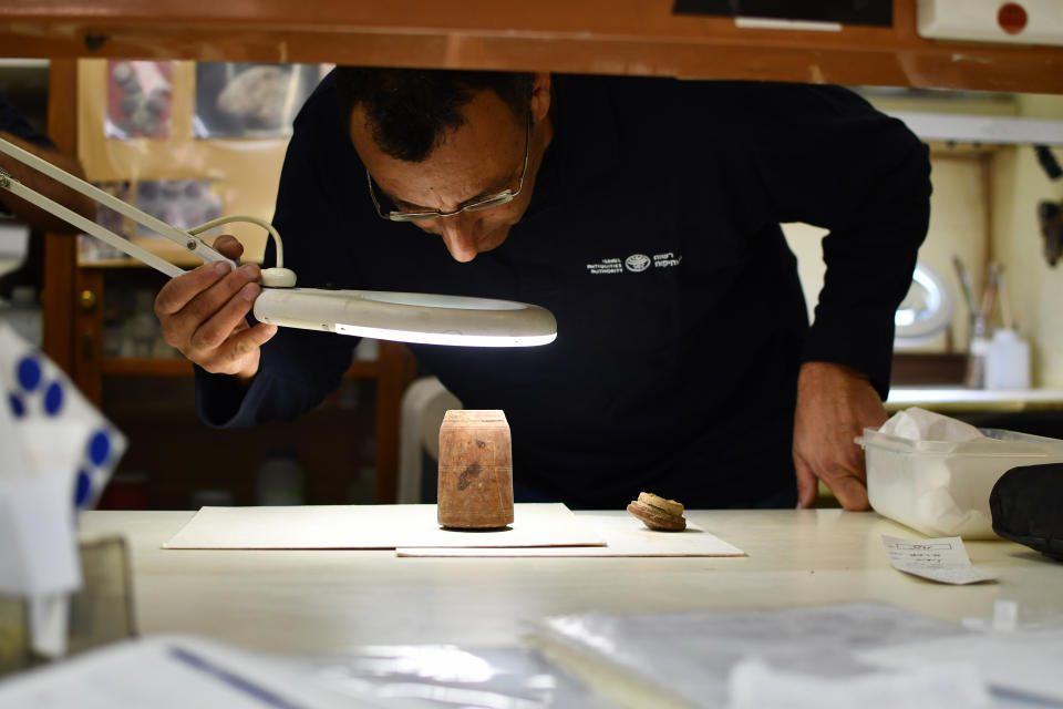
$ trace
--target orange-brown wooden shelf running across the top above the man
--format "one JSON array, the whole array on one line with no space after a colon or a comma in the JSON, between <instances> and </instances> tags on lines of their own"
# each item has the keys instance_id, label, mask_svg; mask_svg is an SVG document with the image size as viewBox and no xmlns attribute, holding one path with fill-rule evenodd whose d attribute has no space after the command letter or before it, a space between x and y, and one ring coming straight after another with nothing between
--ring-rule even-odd
<instances>
[{"instance_id":1,"label":"orange-brown wooden shelf running across the top above the man","mask_svg":"<svg viewBox=\"0 0 1063 709\"><path fill-rule=\"evenodd\" d=\"M889 28L740 28L673 0L334 2L7 0L8 56L111 56L774 79L1063 93L1063 50L926 40L916 0Z\"/></svg>"}]
</instances>

